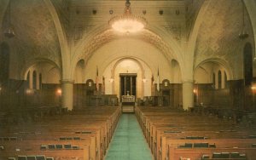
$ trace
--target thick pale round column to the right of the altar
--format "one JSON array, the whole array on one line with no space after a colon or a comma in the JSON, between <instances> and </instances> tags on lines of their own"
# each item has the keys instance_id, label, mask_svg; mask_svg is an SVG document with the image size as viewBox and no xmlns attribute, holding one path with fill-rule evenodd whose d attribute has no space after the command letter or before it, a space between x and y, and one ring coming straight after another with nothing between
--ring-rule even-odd
<instances>
[{"instance_id":1,"label":"thick pale round column to the right of the altar","mask_svg":"<svg viewBox=\"0 0 256 160\"><path fill-rule=\"evenodd\" d=\"M194 107L194 83L193 80L183 81L183 110Z\"/></svg>"}]
</instances>

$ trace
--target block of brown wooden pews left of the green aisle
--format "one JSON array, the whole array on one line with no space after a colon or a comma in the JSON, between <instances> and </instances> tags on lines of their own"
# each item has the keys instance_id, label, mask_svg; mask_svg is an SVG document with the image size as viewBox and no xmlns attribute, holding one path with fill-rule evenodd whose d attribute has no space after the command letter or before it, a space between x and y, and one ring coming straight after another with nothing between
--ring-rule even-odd
<instances>
[{"instance_id":1,"label":"block of brown wooden pews left of the green aisle","mask_svg":"<svg viewBox=\"0 0 256 160\"><path fill-rule=\"evenodd\" d=\"M101 160L121 114L117 106L38 112L0 123L1 160Z\"/></svg>"}]
</instances>

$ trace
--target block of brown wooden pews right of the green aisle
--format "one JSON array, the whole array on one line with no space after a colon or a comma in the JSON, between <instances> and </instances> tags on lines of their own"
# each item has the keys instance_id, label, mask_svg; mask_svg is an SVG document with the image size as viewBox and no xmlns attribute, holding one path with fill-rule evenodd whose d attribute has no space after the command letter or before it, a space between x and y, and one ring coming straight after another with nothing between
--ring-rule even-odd
<instances>
[{"instance_id":1,"label":"block of brown wooden pews right of the green aisle","mask_svg":"<svg viewBox=\"0 0 256 160\"><path fill-rule=\"evenodd\" d=\"M229 158L233 152L245 154L242 159L255 156L255 128L167 107L137 106L135 112L154 159L216 159L214 152L229 152Z\"/></svg>"}]
</instances>

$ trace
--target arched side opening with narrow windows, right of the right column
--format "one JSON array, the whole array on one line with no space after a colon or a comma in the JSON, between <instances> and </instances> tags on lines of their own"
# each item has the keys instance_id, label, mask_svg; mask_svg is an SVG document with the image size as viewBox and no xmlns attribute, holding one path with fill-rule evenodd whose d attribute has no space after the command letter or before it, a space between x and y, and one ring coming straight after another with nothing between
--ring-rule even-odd
<instances>
[{"instance_id":1,"label":"arched side opening with narrow windows, right of the right column","mask_svg":"<svg viewBox=\"0 0 256 160\"><path fill-rule=\"evenodd\" d=\"M194 96L199 106L227 107L230 106L230 94L224 89L224 77L230 74L227 68L217 60L202 62L195 68ZM224 76L224 72L226 76ZM227 81L227 80L226 80Z\"/></svg>"}]
</instances>

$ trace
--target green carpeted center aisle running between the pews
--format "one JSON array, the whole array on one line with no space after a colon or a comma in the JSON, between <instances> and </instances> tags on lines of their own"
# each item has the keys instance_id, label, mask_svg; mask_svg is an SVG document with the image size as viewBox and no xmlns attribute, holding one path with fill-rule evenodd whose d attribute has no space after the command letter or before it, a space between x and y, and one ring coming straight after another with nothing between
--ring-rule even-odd
<instances>
[{"instance_id":1,"label":"green carpeted center aisle running between the pews","mask_svg":"<svg viewBox=\"0 0 256 160\"><path fill-rule=\"evenodd\" d=\"M122 114L105 160L152 160L147 141L134 114Z\"/></svg>"}]
</instances>

